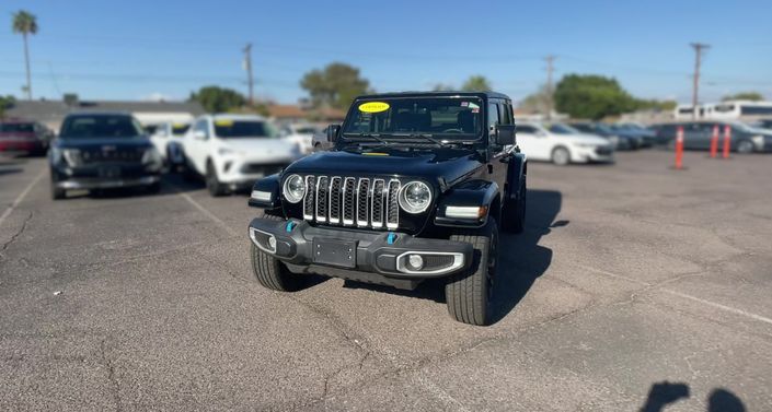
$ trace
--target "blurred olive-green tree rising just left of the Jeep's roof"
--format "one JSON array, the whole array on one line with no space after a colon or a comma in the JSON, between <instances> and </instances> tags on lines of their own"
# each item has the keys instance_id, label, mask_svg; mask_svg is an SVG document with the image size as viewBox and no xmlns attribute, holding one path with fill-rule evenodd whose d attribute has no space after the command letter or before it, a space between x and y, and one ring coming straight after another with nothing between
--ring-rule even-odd
<instances>
[{"instance_id":1,"label":"blurred olive-green tree rising just left of the Jeep's roof","mask_svg":"<svg viewBox=\"0 0 772 412\"><path fill-rule=\"evenodd\" d=\"M324 69L314 69L300 80L300 86L311 95L315 108L348 108L358 95L365 94L370 82L359 75L359 69L346 63L333 62Z\"/></svg>"}]
</instances>

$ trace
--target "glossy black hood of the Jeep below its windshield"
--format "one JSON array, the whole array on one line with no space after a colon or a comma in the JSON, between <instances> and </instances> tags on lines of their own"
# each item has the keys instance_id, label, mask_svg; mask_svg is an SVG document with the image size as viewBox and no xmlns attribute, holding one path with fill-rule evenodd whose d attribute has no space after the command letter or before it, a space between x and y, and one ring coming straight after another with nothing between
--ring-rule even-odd
<instances>
[{"instance_id":1,"label":"glossy black hood of the Jeep below its windshield","mask_svg":"<svg viewBox=\"0 0 772 412\"><path fill-rule=\"evenodd\" d=\"M483 163L477 152L468 149L433 148L431 151L379 148L365 151L318 152L287 167L287 174L329 176L420 177L452 185Z\"/></svg>"}]
</instances>

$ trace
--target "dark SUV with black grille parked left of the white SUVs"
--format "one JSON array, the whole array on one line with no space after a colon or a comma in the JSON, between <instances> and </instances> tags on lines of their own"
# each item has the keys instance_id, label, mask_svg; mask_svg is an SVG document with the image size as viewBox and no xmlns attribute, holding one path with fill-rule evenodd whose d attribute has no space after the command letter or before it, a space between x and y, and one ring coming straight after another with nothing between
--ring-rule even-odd
<instances>
[{"instance_id":1,"label":"dark SUV with black grille parked left of the white SUVs","mask_svg":"<svg viewBox=\"0 0 772 412\"><path fill-rule=\"evenodd\" d=\"M146 187L159 191L163 160L139 122L122 113L68 115L48 151L51 197L68 190Z\"/></svg>"}]
</instances>

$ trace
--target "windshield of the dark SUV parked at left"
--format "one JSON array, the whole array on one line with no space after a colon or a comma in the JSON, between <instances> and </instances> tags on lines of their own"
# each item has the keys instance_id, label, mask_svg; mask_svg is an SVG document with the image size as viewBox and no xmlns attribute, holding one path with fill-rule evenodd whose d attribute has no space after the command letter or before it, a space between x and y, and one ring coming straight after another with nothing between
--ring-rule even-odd
<instances>
[{"instance_id":1,"label":"windshield of the dark SUV parked at left","mask_svg":"<svg viewBox=\"0 0 772 412\"><path fill-rule=\"evenodd\" d=\"M131 116L78 115L70 116L61 126L60 138L135 138L142 134L142 127Z\"/></svg>"}]
</instances>

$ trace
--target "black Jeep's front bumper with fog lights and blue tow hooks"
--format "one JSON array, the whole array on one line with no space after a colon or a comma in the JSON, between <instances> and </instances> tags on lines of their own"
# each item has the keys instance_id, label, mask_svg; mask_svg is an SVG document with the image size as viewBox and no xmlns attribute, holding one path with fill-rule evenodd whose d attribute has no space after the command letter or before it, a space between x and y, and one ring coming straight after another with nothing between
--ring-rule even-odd
<instances>
[{"instance_id":1,"label":"black Jeep's front bumper with fog lights and blue tow hooks","mask_svg":"<svg viewBox=\"0 0 772 412\"><path fill-rule=\"evenodd\" d=\"M286 263L353 271L365 278L357 280L372 283L383 283L379 281L381 278L422 280L446 276L469 267L473 256L472 245L468 243L392 232L322 228L298 220L254 219L249 233L256 247ZM273 243L270 237L274 237ZM412 255L420 256L425 264L420 268L412 266ZM372 275L369 280L368 273Z\"/></svg>"}]
</instances>

